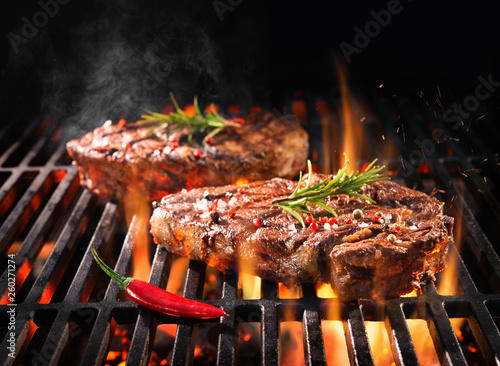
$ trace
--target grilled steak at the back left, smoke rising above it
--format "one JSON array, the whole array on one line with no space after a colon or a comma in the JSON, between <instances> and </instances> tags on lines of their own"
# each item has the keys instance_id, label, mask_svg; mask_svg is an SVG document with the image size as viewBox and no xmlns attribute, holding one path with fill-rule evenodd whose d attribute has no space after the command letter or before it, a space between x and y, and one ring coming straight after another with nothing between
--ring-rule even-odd
<instances>
[{"instance_id":1,"label":"grilled steak at the back left, smoke rising above it","mask_svg":"<svg viewBox=\"0 0 500 366\"><path fill-rule=\"evenodd\" d=\"M151 133L152 125L110 121L67 143L81 183L102 197L127 193L151 200L201 186L273 177L294 178L305 167L307 133L293 117L252 114L239 128L228 127L203 141L190 129ZM149 134L149 136L148 136ZM147 137L146 137L147 136Z\"/></svg>"}]
</instances>

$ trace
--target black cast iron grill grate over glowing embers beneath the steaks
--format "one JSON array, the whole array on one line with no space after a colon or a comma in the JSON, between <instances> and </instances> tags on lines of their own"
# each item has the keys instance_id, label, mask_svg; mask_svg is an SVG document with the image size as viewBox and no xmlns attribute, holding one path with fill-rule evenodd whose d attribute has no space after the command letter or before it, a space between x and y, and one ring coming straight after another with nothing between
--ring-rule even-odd
<instances>
[{"instance_id":1,"label":"black cast iron grill grate over glowing embers beneath the steaks","mask_svg":"<svg viewBox=\"0 0 500 366\"><path fill-rule=\"evenodd\" d=\"M338 135L342 135L345 126L340 122L342 116L332 111L341 110L340 104L338 95L329 93L288 93L285 98L286 110L294 111L307 126L311 157L325 173L338 168L333 156L339 153L334 147L340 146ZM110 354L116 351L115 340L121 337L117 331L128 326L128 338L121 340L129 339L129 344L126 353L120 351L121 355L126 356L127 364L146 365L153 362L153 349L159 338L157 329L174 324L171 352L163 364L196 363L198 333L208 326L216 330L214 356L205 361L233 365L248 357L242 351L239 330L242 324L251 323L258 325L260 347L246 361L276 365L283 360L284 349L288 349L280 325L291 320L301 323L303 351L299 352L308 365L328 363L328 345L322 331L324 321L343 324L346 358L352 365L377 363L367 334L367 321L384 324L396 364L414 365L421 361L408 321L418 319L427 323L442 364L500 363L500 261L496 239L500 206L495 190L500 178L495 153L498 128L483 118L477 128L451 130L428 108L429 101L424 97L410 103L404 98L376 96L369 98L367 105L368 108L359 108L363 113L368 111L359 124L358 133L364 138L359 159L365 162L382 156L381 162L389 171L402 173L394 179L433 192L446 202L447 213L456 218L457 225L456 245L450 248L457 289L441 293L438 284L443 272L436 284L429 283L409 297L344 304L336 298L318 296L316 288L310 285L302 286L294 298L283 297L278 284L262 280L261 295L248 299L241 294L238 274L229 273L220 274L220 296L206 299L207 266L191 261L184 281L184 296L221 306L228 317L220 321L196 321L137 308L124 301L118 286L100 273L88 245L94 241L106 262L114 264L120 274L130 275L141 221L133 217L125 224L123 207L99 202L80 188L77 169L69 164L64 144L57 140L61 126L35 118L14 142L8 141L7 136L16 128L15 123L0 135L4 146L0 156L0 251L5 258L0 264L0 362L4 365L118 364L113 363ZM431 134L438 129L455 139L436 142ZM396 151L386 155L397 155L398 159L383 159L386 141ZM434 150L426 155L425 161L418 161L416 152L425 147L422 142L432 141ZM471 145L477 147L474 150L477 153L472 155ZM15 359L5 352L11 345L9 253L15 254ZM149 281L167 286L175 260L164 249L155 248ZM450 321L454 318L466 320L479 348L474 354L467 352L457 336Z\"/></svg>"}]
</instances>

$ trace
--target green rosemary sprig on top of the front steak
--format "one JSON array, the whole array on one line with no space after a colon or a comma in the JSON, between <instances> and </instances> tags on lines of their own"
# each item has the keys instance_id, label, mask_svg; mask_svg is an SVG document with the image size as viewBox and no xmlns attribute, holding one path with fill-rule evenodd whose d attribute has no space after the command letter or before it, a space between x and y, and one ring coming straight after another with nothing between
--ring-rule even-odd
<instances>
[{"instance_id":1,"label":"green rosemary sprig on top of the front steak","mask_svg":"<svg viewBox=\"0 0 500 366\"><path fill-rule=\"evenodd\" d=\"M302 184L302 172L299 175L299 183L293 191L293 193L287 198L281 198L274 200L272 203L285 211L286 213L292 215L297 221L300 222L302 227L305 227L304 218L300 212L312 215L314 214L308 207L314 207L315 205L323 208L334 216L337 216L335 210L327 206L324 199L328 196L348 194L350 196L361 197L371 203L375 203L373 199L362 195L359 190L367 183L373 183L379 180L388 179L387 177L379 174L385 166L374 166L377 159L373 160L370 165L363 171L356 171L355 173L347 174L347 166L349 165L349 160L344 153L344 166L339 169L338 173L333 178L326 178L310 187L311 177L312 177L312 167L311 161L307 161L308 169L308 179L306 186L301 188Z\"/></svg>"}]
</instances>

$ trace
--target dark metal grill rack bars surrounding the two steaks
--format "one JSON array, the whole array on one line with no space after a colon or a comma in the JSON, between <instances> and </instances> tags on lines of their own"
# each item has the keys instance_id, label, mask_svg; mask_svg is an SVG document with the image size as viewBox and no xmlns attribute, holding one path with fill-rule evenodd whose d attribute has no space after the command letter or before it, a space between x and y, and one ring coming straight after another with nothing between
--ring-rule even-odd
<instances>
[{"instance_id":1,"label":"dark metal grill rack bars surrounding the two steaks","mask_svg":"<svg viewBox=\"0 0 500 366\"><path fill-rule=\"evenodd\" d=\"M336 94L312 96L305 93L305 97L296 98L292 93L285 96L285 105L288 110L294 109L294 103L299 101L306 105L307 114L299 116L309 126L313 149L317 154L319 164L327 160L327 146L321 131L322 122L316 113L315 103L318 100L328 100L329 106L338 105ZM425 99L422 99L425 102ZM394 101L380 97L371 99L376 110L380 113L379 120L386 133L397 144L401 155L410 161L409 144L397 133L390 108ZM394 104L393 104L394 103ZM410 109L402 109L405 120L409 121L411 131L420 140L428 138L422 121L415 120ZM420 109L421 111L422 109ZM435 116L430 119L436 126L452 133L449 128ZM14 122L10 128L15 128ZM498 136L498 129L489 123L489 131ZM97 202L88 191L79 188L76 167L65 161L64 146L58 146L50 138L61 126L57 122L48 123L41 117L35 118L24 129L23 134L8 146L0 157L0 174L5 177L0 189L0 202L11 202L3 213L0 226L0 251L5 254L14 245L19 237L22 239L15 257L16 280L19 284L29 278L35 257L50 236L50 229L57 226L56 218L64 218L64 226L46 259L40 274L33 280L29 288L21 286L22 301L16 305L16 354L21 356L27 353L29 343L33 340L37 327L48 327L49 335L40 342L35 349L34 356L28 358L37 364L58 364L63 362L64 352L68 344L79 333L83 326L91 326L85 350L81 355L80 364L103 364L111 345L114 331L118 324L135 324L129 348L127 363L131 365L148 364L151 355L156 327L159 324L176 323L177 333L172 353L172 364L190 364L193 362L194 342L196 331L200 324L207 321L177 319L166 315L153 314L146 309L138 309L135 304L122 301L118 286L110 282L104 293L95 294L92 284L99 274L98 267L93 263L92 256L86 247L89 240L94 241L98 251L105 249L110 242L116 241L116 232L122 220L120 207L114 203ZM475 131L474 129L472 131ZM3 133L2 141L8 134ZM35 136L42 136L35 138ZM371 134L367 136L373 137ZM34 141L34 143L33 143ZM479 141L479 140L476 140ZM236 359L237 343L236 330L242 322L258 322L261 324L260 360L264 365L279 364L281 360L279 324L283 320L284 309L292 309L297 321L302 322L304 336L305 362L308 365L326 364L325 345L321 331L322 320L340 320L344 325L345 339L349 360L352 365L375 364L366 333L365 319L383 321L387 327L392 347L393 358L398 365L418 364L418 355L413 346L406 319L417 318L427 322L429 331L437 350L440 362L445 365L467 364L460 342L450 324L450 318L466 318L480 348L486 364L500 362L500 333L495 318L500 317L500 260L497 252L491 245L484 228L478 223L474 209L469 200L461 193L461 186L455 184L455 177L450 175L447 166L457 164L461 171L467 171L468 178L464 183L472 191L480 189L478 196L484 204L490 222L500 223L499 205L491 189L483 179L473 170L480 161L488 158L493 164L498 163L488 146L483 146L480 156L468 157L461 145L453 140L446 142L450 145L454 155L428 156L432 176L435 184L446 193L443 198L450 206L461 209L462 242L468 246L478 266L486 266L485 273L491 291L478 290L477 284L471 276L463 258L454 245L450 248L450 255L456 254L459 282L462 293L453 296L438 294L434 283L426 285L413 297L402 297L381 302L360 301L357 304L343 304L338 299L319 298L313 286L302 286L302 296L299 299L282 299L277 296L278 285L269 281L262 281L262 298L255 300L242 299L238 294L238 276L235 273L224 275L222 296L218 300L207 301L221 306L230 316L223 317L219 323L217 343L217 365L234 364ZM376 146L376 143L370 144ZM47 147L49 147L47 149ZM50 151L48 158L42 164L33 164L39 160L43 151ZM24 151L26 154L23 156ZM384 162L394 166L398 162ZM498 170L492 170L498 179ZM24 193L17 192L17 186L22 180ZM48 183L47 183L48 182ZM407 185L424 189L425 184L416 171L405 177ZM18 196L16 198L16 196ZM35 207L33 202L42 200ZM98 212L98 222L92 225L92 216ZM66 215L66 216L65 216ZM477 213L476 213L477 215ZM95 219L95 217L94 217ZM134 232L137 223L134 219L119 247L119 256L115 269L125 274L131 264L132 247L135 243ZM25 233L21 235L20 233ZM89 236L91 236L89 238ZM490 236L491 237L491 236ZM82 239L84 238L84 239ZM87 240L85 240L87 239ZM51 296L57 293L57 285L64 277L64 273L71 266L71 258L78 248L83 246L81 263L75 272L68 291L61 300L50 302ZM168 281L172 256L162 248L156 248L152 262L149 281L157 286L165 286ZM2 263L2 279L0 294L5 299L8 291L8 271ZM187 271L184 296L201 298L205 278L206 265L191 261ZM55 285L54 285L55 284ZM17 286L19 288L19 286ZM19 295L19 294L18 294ZM47 300L48 299L48 300ZM328 311L335 308L338 311ZM7 349L8 342L8 314L9 305L1 305L0 320L2 327L2 350ZM331 318L331 314L338 314ZM208 321L208 323L216 321ZM498 323L497 323L498 324ZM33 349L30 349L33 351ZM32 352L33 353L33 352ZM29 355L28 355L29 356ZM1 353L0 362L4 365L19 364L19 359L12 359L7 353Z\"/></svg>"}]
</instances>

